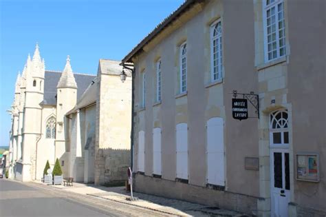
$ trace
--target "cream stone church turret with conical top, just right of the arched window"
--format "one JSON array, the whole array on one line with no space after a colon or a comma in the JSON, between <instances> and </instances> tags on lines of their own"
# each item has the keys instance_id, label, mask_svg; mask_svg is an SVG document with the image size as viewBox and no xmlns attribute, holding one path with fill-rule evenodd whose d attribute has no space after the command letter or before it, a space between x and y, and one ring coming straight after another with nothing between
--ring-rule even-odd
<instances>
[{"instance_id":1,"label":"cream stone church turret with conical top, just right of the arched window","mask_svg":"<svg viewBox=\"0 0 326 217\"><path fill-rule=\"evenodd\" d=\"M65 114L72 110L77 101L77 84L67 56L65 69L56 86L56 158L65 153Z\"/></svg>"}]
</instances>

